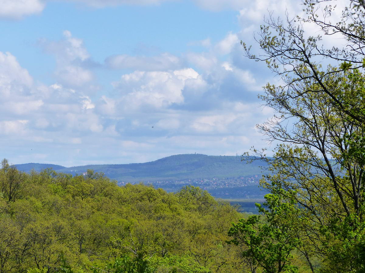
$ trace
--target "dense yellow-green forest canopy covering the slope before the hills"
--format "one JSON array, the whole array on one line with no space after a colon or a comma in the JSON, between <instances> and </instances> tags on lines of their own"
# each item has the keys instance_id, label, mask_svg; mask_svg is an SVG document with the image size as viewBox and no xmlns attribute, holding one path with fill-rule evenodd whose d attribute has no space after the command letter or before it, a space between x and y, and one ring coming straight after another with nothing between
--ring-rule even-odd
<instances>
[{"instance_id":1,"label":"dense yellow-green forest canopy covering the slope before the hills","mask_svg":"<svg viewBox=\"0 0 365 273\"><path fill-rule=\"evenodd\" d=\"M242 272L234 207L186 186L119 187L100 173L30 174L1 162L0 272Z\"/></svg>"}]
</instances>

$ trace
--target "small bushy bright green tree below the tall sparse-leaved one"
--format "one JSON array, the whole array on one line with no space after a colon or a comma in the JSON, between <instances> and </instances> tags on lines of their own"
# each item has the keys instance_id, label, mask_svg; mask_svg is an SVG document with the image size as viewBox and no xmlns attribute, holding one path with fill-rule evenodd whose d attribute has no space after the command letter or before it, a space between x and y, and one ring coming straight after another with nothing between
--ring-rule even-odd
<instances>
[{"instance_id":1,"label":"small bushy bright green tree below the tall sparse-leaved one","mask_svg":"<svg viewBox=\"0 0 365 273\"><path fill-rule=\"evenodd\" d=\"M266 200L268 209L258 204L263 215L253 215L233 224L228 232L232 237L229 243L249 247L243 250L242 258L252 273L258 267L268 273L296 273L293 251L300 246L301 239L293 223L297 222L299 210L291 203L280 202L277 195L268 194Z\"/></svg>"}]
</instances>

